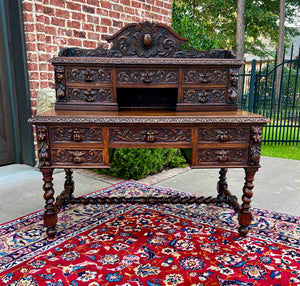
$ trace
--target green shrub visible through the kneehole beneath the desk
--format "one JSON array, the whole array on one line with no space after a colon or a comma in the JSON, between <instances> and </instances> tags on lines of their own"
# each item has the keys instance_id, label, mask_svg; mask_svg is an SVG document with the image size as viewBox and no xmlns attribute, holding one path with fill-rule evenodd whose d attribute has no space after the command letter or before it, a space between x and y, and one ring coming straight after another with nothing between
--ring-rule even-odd
<instances>
[{"instance_id":1,"label":"green shrub visible through the kneehole beneath the desk","mask_svg":"<svg viewBox=\"0 0 300 286\"><path fill-rule=\"evenodd\" d=\"M123 179L139 180L163 169L186 166L178 149L116 149L110 169L96 169Z\"/></svg>"}]
</instances>

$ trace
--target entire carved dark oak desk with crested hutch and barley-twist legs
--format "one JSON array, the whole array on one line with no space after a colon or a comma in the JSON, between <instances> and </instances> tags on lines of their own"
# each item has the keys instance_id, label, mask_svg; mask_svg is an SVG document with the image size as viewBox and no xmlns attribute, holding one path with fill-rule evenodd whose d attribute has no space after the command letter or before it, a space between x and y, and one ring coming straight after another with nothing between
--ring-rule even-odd
<instances>
[{"instance_id":1,"label":"entire carved dark oak desk with crested hutch and barley-twist legs","mask_svg":"<svg viewBox=\"0 0 300 286\"><path fill-rule=\"evenodd\" d=\"M163 24L129 24L107 41L110 49L66 48L51 60L55 110L29 120L37 131L48 236L69 203L220 202L238 213L246 236L266 119L237 109L243 62L225 50L182 50L187 39ZM180 148L192 168L220 168L217 197L74 198L71 169L109 168L114 148ZM66 172L56 200L54 168ZM227 168L245 169L241 205L227 188Z\"/></svg>"}]
</instances>

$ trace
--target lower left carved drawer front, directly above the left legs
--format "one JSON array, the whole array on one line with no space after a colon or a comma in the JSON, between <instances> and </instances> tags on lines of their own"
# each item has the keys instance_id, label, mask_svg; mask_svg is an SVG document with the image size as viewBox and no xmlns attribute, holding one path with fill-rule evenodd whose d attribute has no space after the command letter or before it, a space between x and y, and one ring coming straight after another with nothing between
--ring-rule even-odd
<instances>
[{"instance_id":1,"label":"lower left carved drawer front, directly above the left legs","mask_svg":"<svg viewBox=\"0 0 300 286\"><path fill-rule=\"evenodd\" d=\"M52 148L51 160L53 165L94 165L104 164L103 149L89 148Z\"/></svg>"}]
</instances>

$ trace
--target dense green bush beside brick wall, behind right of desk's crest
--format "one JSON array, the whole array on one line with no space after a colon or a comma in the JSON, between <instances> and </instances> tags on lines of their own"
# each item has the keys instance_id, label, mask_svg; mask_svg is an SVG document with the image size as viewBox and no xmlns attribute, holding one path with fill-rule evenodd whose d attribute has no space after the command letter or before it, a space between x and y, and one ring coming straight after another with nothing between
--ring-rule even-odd
<instances>
[{"instance_id":1,"label":"dense green bush beside brick wall, behind right of desk's crest","mask_svg":"<svg viewBox=\"0 0 300 286\"><path fill-rule=\"evenodd\" d=\"M174 1L172 15L172 29L189 39L186 44L182 45L183 49L188 50L193 47L197 50L212 50L219 47L219 39L210 37L204 25L194 21L192 6Z\"/></svg>"}]
</instances>

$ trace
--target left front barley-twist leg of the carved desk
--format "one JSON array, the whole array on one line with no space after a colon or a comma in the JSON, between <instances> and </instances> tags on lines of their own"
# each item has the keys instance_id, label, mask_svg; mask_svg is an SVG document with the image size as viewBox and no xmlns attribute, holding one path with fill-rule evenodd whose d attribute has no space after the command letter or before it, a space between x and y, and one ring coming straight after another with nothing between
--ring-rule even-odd
<instances>
[{"instance_id":1,"label":"left front barley-twist leg of the carved desk","mask_svg":"<svg viewBox=\"0 0 300 286\"><path fill-rule=\"evenodd\" d=\"M44 199L46 201L45 212L44 212L44 226L47 227L46 233L49 238L54 238L56 234L56 222L57 222L57 214L54 210L54 189L52 184L52 174L53 169L41 169L43 173L43 181L45 182L43 185Z\"/></svg>"}]
</instances>

